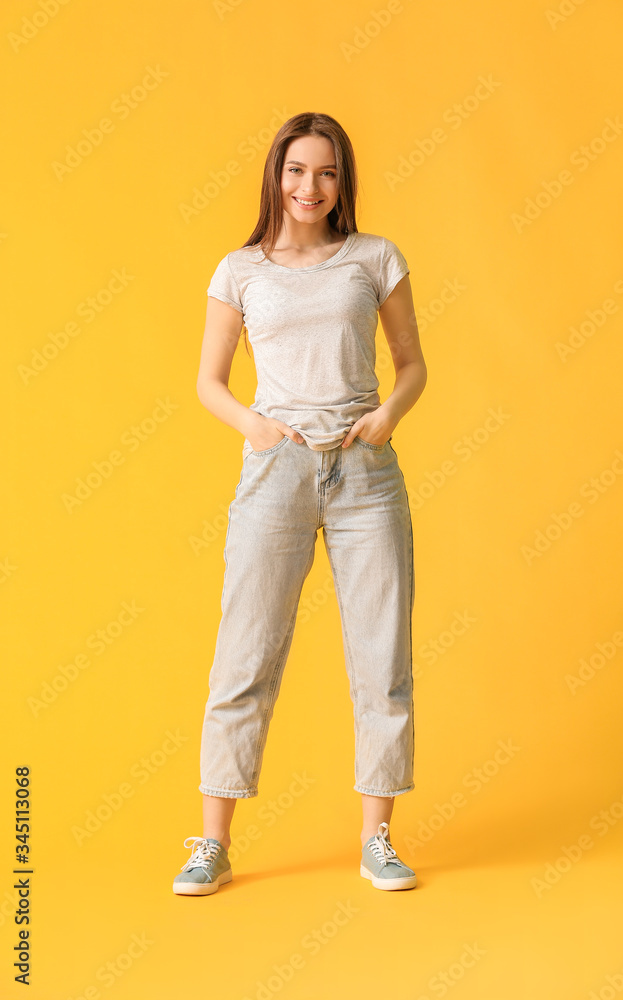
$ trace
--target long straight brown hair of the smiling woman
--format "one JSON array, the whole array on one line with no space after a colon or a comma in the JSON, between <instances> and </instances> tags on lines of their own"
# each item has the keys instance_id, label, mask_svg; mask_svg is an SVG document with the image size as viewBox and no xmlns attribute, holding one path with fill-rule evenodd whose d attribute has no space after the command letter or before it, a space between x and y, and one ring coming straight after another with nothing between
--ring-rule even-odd
<instances>
[{"instance_id":1,"label":"long straight brown hair of the smiling woman","mask_svg":"<svg viewBox=\"0 0 623 1000\"><path fill-rule=\"evenodd\" d=\"M329 225L338 233L356 233L357 222L357 165L350 139L339 122L331 115L303 111L284 122L266 156L260 212L255 229L243 247L260 247L265 257L270 257L283 225L283 198L281 173L288 143L303 135L319 135L333 144L337 174L337 201L328 215ZM247 354L247 328L242 327Z\"/></svg>"}]
</instances>

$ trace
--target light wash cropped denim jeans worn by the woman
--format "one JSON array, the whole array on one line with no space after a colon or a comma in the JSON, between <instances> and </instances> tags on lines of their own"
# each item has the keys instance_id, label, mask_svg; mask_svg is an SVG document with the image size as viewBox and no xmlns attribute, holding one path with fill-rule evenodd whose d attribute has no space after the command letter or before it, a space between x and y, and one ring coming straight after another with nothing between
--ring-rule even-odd
<instances>
[{"instance_id":1,"label":"light wash cropped denim jeans worn by the woman","mask_svg":"<svg viewBox=\"0 0 623 1000\"><path fill-rule=\"evenodd\" d=\"M201 740L205 795L258 794L321 527L354 707L354 790L391 796L414 788L413 533L398 456L390 441L356 437L348 448L314 451L285 436L244 457L229 506L222 618ZM327 657L321 668L330 666Z\"/></svg>"}]
</instances>

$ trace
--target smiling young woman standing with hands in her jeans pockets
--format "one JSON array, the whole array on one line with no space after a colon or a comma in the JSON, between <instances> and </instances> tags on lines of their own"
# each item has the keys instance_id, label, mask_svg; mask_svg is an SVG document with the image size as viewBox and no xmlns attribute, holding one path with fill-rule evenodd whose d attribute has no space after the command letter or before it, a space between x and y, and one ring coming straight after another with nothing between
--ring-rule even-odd
<instances>
[{"instance_id":1,"label":"smiling young woman standing with hands in her jeans pockets","mask_svg":"<svg viewBox=\"0 0 623 1000\"><path fill-rule=\"evenodd\" d=\"M202 732L203 837L184 841L191 857L173 883L179 894L208 895L232 878L234 806L258 794L320 528L354 706L360 874L380 889L415 885L389 838L394 797L414 788L413 536L390 441L427 372L407 262L391 240L357 230L356 196L339 123L294 116L269 150L257 226L208 288L199 398L244 444ZM383 403L379 315L396 370ZM250 407L228 388L241 328L257 371Z\"/></svg>"}]
</instances>

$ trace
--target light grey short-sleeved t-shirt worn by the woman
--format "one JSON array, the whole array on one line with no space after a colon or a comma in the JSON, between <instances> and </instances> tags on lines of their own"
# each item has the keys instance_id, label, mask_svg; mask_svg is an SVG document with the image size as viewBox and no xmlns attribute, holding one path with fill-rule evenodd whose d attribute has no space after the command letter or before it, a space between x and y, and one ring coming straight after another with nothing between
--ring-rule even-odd
<instances>
[{"instance_id":1,"label":"light grey short-sleeved t-shirt worn by the woman","mask_svg":"<svg viewBox=\"0 0 623 1000\"><path fill-rule=\"evenodd\" d=\"M253 349L252 410L293 427L310 448L335 448L380 405L378 310L409 266L395 243L349 233L328 260L284 267L259 247L232 250L207 294L242 313ZM252 451L247 438L243 458Z\"/></svg>"}]
</instances>

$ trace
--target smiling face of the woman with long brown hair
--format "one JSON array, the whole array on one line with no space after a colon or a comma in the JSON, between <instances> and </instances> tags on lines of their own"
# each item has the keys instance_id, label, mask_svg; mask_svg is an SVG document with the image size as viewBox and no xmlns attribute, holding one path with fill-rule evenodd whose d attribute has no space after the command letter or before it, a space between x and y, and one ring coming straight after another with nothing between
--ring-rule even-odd
<instances>
[{"instance_id":1,"label":"smiling face of the woman with long brown hair","mask_svg":"<svg viewBox=\"0 0 623 1000\"><path fill-rule=\"evenodd\" d=\"M283 209L297 222L319 222L337 202L337 167L333 143L325 136L303 135L289 143L281 172ZM306 207L301 202L316 204Z\"/></svg>"}]
</instances>

